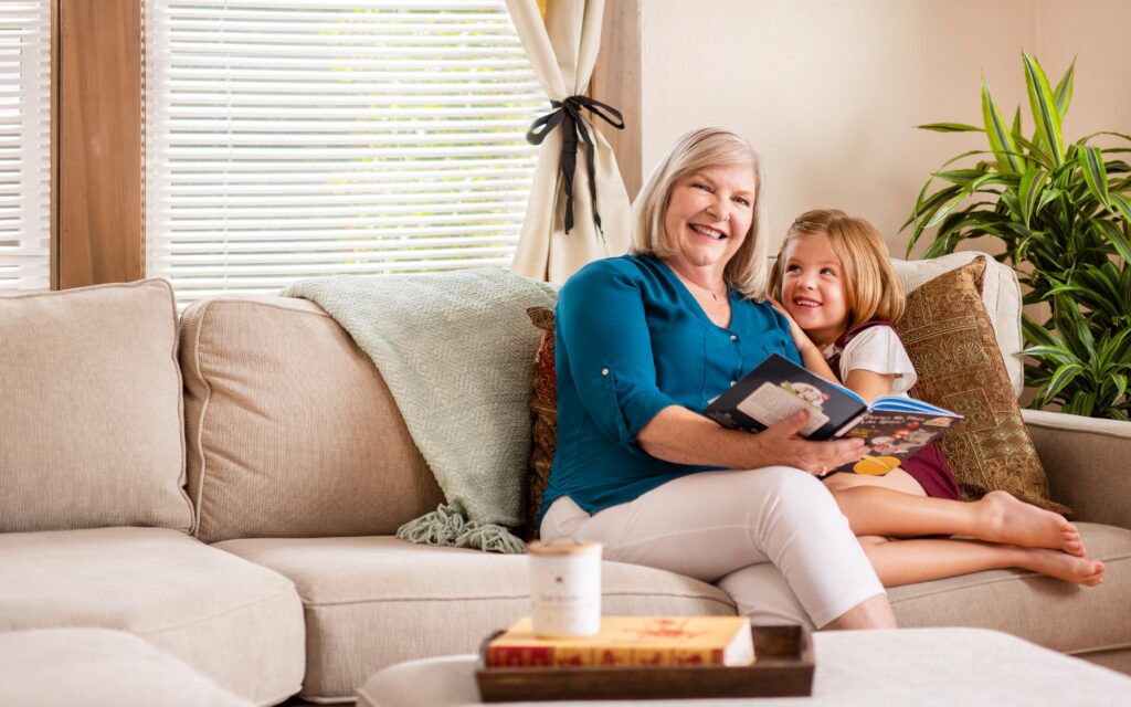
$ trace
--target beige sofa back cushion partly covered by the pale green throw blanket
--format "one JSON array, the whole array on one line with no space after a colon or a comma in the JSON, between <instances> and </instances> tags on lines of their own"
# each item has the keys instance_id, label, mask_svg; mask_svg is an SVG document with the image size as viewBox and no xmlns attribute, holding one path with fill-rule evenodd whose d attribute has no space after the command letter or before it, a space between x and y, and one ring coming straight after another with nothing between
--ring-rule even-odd
<instances>
[{"instance_id":1,"label":"beige sofa back cushion partly covered by the pale green throw blanket","mask_svg":"<svg viewBox=\"0 0 1131 707\"><path fill-rule=\"evenodd\" d=\"M316 304L197 302L181 368L200 540L382 535L443 501L380 372Z\"/></svg>"}]
</instances>

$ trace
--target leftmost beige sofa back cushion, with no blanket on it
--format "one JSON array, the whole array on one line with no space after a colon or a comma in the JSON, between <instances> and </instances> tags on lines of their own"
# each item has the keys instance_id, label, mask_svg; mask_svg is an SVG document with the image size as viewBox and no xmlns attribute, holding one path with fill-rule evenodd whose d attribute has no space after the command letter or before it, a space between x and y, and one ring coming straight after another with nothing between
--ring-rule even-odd
<instances>
[{"instance_id":1,"label":"leftmost beige sofa back cushion, with no blanket on it","mask_svg":"<svg viewBox=\"0 0 1131 707\"><path fill-rule=\"evenodd\" d=\"M169 283L0 298L0 532L188 531L181 421Z\"/></svg>"}]
</instances>

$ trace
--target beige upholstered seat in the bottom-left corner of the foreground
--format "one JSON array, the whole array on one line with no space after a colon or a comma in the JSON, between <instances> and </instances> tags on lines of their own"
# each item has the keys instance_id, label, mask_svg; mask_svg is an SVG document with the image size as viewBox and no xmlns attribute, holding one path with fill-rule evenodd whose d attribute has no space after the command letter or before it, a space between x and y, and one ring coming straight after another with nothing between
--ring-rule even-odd
<instances>
[{"instance_id":1,"label":"beige upholstered seat in the bottom-left corner of the foreground","mask_svg":"<svg viewBox=\"0 0 1131 707\"><path fill-rule=\"evenodd\" d=\"M0 705L251 707L136 636L105 629L0 633Z\"/></svg>"}]
</instances>

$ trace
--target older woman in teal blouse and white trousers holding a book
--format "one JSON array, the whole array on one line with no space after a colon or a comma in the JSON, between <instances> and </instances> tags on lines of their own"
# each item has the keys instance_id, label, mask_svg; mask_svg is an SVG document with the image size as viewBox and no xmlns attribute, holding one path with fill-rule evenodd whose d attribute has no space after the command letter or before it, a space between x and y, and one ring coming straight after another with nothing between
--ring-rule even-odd
<instances>
[{"instance_id":1,"label":"older woman in teal blouse and white trousers holding a book","mask_svg":"<svg viewBox=\"0 0 1131 707\"><path fill-rule=\"evenodd\" d=\"M637 199L633 253L562 287L542 537L599 541L608 560L717 583L756 621L892 627L867 557L813 476L858 458L862 442L801 439L804 413L759 434L700 414L771 353L801 362L785 319L756 299L760 206L750 146L691 132Z\"/></svg>"}]
</instances>

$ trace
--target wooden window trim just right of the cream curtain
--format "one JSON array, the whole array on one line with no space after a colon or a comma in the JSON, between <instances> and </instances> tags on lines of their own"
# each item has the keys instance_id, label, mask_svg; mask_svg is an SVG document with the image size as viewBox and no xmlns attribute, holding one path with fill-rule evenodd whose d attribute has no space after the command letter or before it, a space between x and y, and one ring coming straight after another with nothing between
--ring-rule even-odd
<instances>
[{"instance_id":1,"label":"wooden window trim just right of the cream curtain","mask_svg":"<svg viewBox=\"0 0 1131 707\"><path fill-rule=\"evenodd\" d=\"M589 95L624 115L624 129L602 126L616 155L629 199L634 199L644 179L644 101L640 90L640 3L642 0L606 0L601 26L601 51L589 80Z\"/></svg>"}]
</instances>

